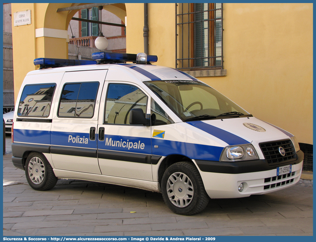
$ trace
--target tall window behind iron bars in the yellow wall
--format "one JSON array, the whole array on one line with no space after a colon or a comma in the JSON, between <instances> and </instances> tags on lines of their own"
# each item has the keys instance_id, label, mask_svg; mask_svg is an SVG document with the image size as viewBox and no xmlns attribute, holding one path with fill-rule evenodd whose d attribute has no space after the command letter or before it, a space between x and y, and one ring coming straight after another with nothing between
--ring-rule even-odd
<instances>
[{"instance_id":1,"label":"tall window behind iron bars in the yellow wall","mask_svg":"<svg viewBox=\"0 0 316 242\"><path fill-rule=\"evenodd\" d=\"M222 3L176 3L177 69L223 69L222 9Z\"/></svg>"}]
</instances>

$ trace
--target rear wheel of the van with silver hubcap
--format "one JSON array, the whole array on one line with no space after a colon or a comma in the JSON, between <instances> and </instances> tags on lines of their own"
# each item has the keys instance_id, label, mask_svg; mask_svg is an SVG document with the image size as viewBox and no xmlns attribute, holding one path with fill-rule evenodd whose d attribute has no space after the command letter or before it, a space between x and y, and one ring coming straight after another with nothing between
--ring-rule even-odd
<instances>
[{"instance_id":1,"label":"rear wheel of the van with silver hubcap","mask_svg":"<svg viewBox=\"0 0 316 242\"><path fill-rule=\"evenodd\" d=\"M53 188L58 180L46 157L37 152L32 152L27 156L25 175L28 184L34 190L40 191Z\"/></svg>"}]
</instances>

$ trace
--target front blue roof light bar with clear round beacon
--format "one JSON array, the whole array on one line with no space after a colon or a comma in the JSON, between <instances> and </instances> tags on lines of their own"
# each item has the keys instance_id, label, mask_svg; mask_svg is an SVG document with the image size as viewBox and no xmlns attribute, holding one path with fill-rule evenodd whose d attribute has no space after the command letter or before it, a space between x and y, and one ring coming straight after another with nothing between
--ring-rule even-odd
<instances>
[{"instance_id":1,"label":"front blue roof light bar with clear round beacon","mask_svg":"<svg viewBox=\"0 0 316 242\"><path fill-rule=\"evenodd\" d=\"M95 52L92 54L93 60L107 62L136 62L137 54L112 53L112 52ZM157 55L147 55L147 62L157 62Z\"/></svg>"}]
</instances>

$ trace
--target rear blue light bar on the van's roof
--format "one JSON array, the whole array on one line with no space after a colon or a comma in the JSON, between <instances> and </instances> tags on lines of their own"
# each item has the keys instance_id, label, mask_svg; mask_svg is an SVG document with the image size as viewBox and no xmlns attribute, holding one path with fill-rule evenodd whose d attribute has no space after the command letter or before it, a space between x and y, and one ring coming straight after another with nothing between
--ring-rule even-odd
<instances>
[{"instance_id":1,"label":"rear blue light bar on the van's roof","mask_svg":"<svg viewBox=\"0 0 316 242\"><path fill-rule=\"evenodd\" d=\"M34 65L45 67L66 67L66 66L80 66L80 65L94 65L96 61L88 60L68 60L68 59L52 59L52 58L37 58L34 60Z\"/></svg>"}]
</instances>

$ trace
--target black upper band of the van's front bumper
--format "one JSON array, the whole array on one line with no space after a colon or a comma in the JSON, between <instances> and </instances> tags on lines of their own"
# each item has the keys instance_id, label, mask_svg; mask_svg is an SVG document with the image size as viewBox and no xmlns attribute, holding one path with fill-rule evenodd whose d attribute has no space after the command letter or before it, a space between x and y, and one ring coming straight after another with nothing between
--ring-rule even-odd
<instances>
[{"instance_id":1,"label":"black upper band of the van's front bumper","mask_svg":"<svg viewBox=\"0 0 316 242\"><path fill-rule=\"evenodd\" d=\"M255 160L255 161L240 161L240 162L219 162L219 161L204 161L195 160L197 166L201 171L204 172L215 172L224 174L241 174L248 172L258 172L273 170L279 166L285 166L289 164L298 164L304 158L304 153L300 150L297 153L297 159L292 162L276 164L274 166L269 166L266 160Z\"/></svg>"}]
</instances>

